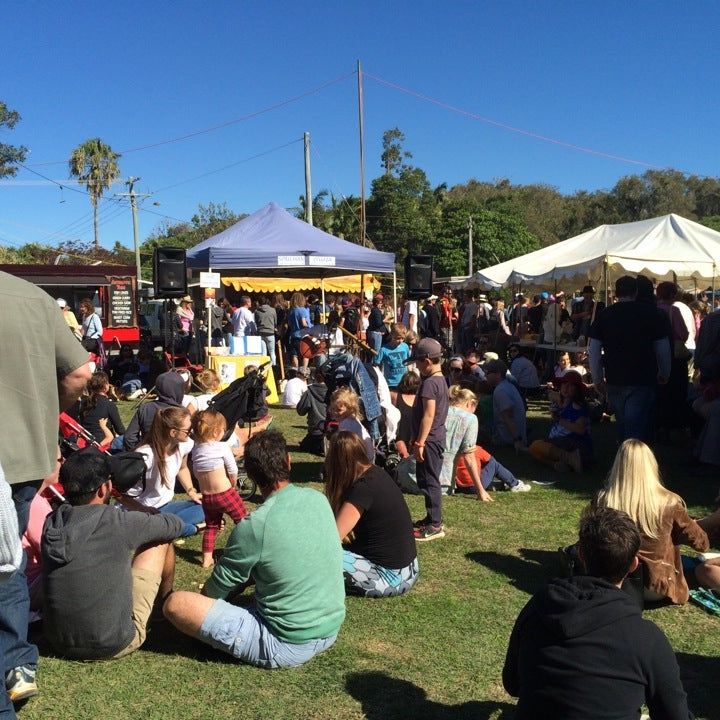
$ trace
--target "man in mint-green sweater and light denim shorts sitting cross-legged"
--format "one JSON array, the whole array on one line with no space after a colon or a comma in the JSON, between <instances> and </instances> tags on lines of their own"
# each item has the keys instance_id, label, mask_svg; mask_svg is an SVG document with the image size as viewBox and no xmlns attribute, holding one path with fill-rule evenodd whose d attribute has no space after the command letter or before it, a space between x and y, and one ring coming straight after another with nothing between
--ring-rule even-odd
<instances>
[{"instance_id":1,"label":"man in mint-green sweater and light denim shorts sitting cross-legged","mask_svg":"<svg viewBox=\"0 0 720 720\"><path fill-rule=\"evenodd\" d=\"M165 616L250 665L295 667L329 648L345 619L335 518L324 495L290 484L281 433L265 430L248 440L245 470L263 504L235 526L203 594L173 593ZM250 585L254 607L228 602Z\"/></svg>"}]
</instances>

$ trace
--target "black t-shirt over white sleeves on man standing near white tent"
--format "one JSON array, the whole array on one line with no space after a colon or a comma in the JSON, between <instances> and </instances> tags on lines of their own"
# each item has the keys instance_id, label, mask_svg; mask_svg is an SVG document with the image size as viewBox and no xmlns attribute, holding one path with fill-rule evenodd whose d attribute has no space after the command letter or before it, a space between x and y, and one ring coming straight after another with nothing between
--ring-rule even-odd
<instances>
[{"instance_id":1,"label":"black t-shirt over white sleeves on man standing near white tent","mask_svg":"<svg viewBox=\"0 0 720 720\"><path fill-rule=\"evenodd\" d=\"M636 300L615 303L598 312L590 337L603 344L605 379L609 385L655 385L655 340L669 334L667 314Z\"/></svg>"}]
</instances>

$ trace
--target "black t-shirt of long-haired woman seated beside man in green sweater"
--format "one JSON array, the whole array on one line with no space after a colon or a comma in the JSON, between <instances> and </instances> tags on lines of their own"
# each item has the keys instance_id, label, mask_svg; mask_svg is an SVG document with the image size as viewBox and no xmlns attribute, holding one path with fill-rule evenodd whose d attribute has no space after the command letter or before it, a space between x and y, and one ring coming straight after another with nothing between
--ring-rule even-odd
<instances>
[{"instance_id":1,"label":"black t-shirt of long-haired woman seated beside man in green sweater","mask_svg":"<svg viewBox=\"0 0 720 720\"><path fill-rule=\"evenodd\" d=\"M391 570L407 567L415 559L410 511L400 488L384 470L369 468L350 488L346 501L363 511L348 550Z\"/></svg>"}]
</instances>

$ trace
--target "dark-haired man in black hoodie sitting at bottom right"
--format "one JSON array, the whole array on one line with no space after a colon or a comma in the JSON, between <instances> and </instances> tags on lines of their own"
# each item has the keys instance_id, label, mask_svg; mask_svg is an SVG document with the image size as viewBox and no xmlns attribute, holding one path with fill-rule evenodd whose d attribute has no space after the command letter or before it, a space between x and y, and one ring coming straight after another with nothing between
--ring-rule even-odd
<instances>
[{"instance_id":1,"label":"dark-haired man in black hoodie sitting at bottom right","mask_svg":"<svg viewBox=\"0 0 720 720\"><path fill-rule=\"evenodd\" d=\"M588 576L553 580L515 622L503 669L515 717L688 720L687 696L663 632L620 586L638 566L640 534L624 512L590 507L580 521Z\"/></svg>"}]
</instances>

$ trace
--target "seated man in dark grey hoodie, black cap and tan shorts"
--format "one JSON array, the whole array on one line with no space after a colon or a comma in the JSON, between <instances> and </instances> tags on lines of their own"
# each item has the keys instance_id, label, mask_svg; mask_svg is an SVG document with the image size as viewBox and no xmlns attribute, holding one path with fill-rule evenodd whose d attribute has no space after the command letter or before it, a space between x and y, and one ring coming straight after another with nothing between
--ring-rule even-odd
<instances>
[{"instance_id":1,"label":"seated man in dark grey hoodie, black cap and tan shorts","mask_svg":"<svg viewBox=\"0 0 720 720\"><path fill-rule=\"evenodd\" d=\"M48 515L41 542L45 635L73 660L122 657L172 592L183 521L109 507L110 460L93 448L65 461L60 482L68 502Z\"/></svg>"}]
</instances>

